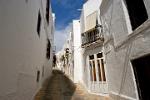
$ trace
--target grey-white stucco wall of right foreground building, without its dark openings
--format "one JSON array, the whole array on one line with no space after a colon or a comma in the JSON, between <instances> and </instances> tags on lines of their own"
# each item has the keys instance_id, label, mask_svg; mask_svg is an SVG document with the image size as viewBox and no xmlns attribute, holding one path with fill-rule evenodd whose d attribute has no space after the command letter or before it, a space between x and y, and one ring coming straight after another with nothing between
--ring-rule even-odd
<instances>
[{"instance_id":1,"label":"grey-white stucco wall of right foreground building, without its dark openings","mask_svg":"<svg viewBox=\"0 0 150 100\"><path fill-rule=\"evenodd\" d=\"M148 19L131 32L123 3L123 0L106 0L100 7L106 40L108 91L114 100L139 100L131 60L150 53L150 24ZM150 2L144 0L144 3L150 15Z\"/></svg>"}]
</instances>

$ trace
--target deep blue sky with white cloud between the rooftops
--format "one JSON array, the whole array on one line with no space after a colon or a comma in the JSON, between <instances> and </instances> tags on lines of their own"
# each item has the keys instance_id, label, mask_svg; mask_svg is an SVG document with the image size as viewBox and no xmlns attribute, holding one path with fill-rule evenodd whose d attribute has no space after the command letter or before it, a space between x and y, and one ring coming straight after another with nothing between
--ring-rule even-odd
<instances>
[{"instance_id":1,"label":"deep blue sky with white cloud between the rooftops","mask_svg":"<svg viewBox=\"0 0 150 100\"><path fill-rule=\"evenodd\" d=\"M61 50L67 34L71 30L73 19L79 19L85 0L51 0L52 12L55 13L55 45L56 51Z\"/></svg>"}]
</instances>

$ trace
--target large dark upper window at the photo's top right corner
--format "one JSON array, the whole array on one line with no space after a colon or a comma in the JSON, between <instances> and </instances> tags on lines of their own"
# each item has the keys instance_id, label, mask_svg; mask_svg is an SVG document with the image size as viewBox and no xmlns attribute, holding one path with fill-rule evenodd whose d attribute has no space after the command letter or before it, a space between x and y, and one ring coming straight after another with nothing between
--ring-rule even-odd
<instances>
[{"instance_id":1,"label":"large dark upper window at the photo's top right corner","mask_svg":"<svg viewBox=\"0 0 150 100\"><path fill-rule=\"evenodd\" d=\"M132 29L135 30L138 26L148 19L146 8L143 0L125 0Z\"/></svg>"}]
</instances>

